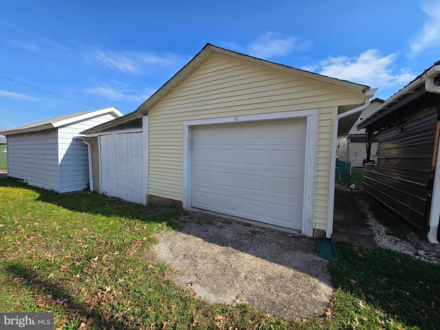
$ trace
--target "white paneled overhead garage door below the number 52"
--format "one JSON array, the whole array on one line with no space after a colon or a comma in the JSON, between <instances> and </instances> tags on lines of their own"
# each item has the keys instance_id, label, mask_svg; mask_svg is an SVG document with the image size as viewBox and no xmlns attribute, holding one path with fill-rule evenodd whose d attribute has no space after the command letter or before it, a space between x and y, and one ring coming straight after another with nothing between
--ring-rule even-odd
<instances>
[{"instance_id":1,"label":"white paneled overhead garage door below the number 52","mask_svg":"<svg viewBox=\"0 0 440 330\"><path fill-rule=\"evenodd\" d=\"M301 230L306 120L193 126L195 208Z\"/></svg>"}]
</instances>

